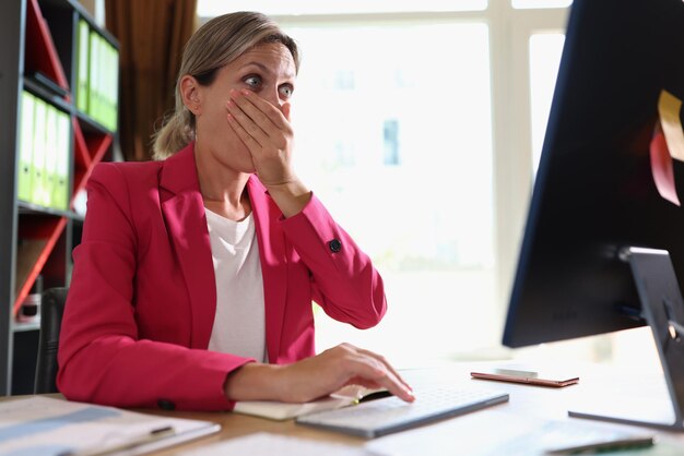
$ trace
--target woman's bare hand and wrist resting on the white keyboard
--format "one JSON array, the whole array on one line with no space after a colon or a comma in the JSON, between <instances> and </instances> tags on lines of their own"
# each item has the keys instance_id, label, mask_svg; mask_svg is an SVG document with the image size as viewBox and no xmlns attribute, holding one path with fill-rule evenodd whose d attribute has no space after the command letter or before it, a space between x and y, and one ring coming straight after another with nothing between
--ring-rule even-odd
<instances>
[{"instance_id":1,"label":"woman's bare hand and wrist resting on the white keyboard","mask_svg":"<svg viewBox=\"0 0 684 456\"><path fill-rule=\"evenodd\" d=\"M384 357L350 344L287 365L246 364L228 375L225 393L232 400L306 403L352 384L385 387L414 400L411 387Z\"/></svg>"}]
</instances>

